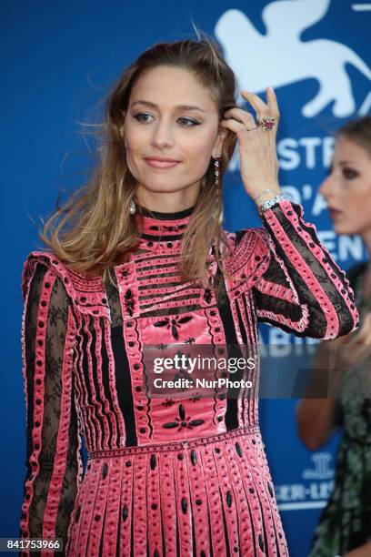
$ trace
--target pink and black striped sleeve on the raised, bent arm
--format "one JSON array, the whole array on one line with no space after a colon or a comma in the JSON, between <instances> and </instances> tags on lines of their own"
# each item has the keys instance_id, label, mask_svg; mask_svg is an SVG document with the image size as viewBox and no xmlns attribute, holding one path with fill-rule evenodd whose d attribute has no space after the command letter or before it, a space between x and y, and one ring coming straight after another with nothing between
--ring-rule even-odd
<instances>
[{"instance_id":1,"label":"pink and black striped sleeve on the raised, bent arm","mask_svg":"<svg viewBox=\"0 0 371 557\"><path fill-rule=\"evenodd\" d=\"M255 285L258 317L296 336L334 339L358 324L346 275L303 218L282 201L263 216L269 266Z\"/></svg>"}]
</instances>

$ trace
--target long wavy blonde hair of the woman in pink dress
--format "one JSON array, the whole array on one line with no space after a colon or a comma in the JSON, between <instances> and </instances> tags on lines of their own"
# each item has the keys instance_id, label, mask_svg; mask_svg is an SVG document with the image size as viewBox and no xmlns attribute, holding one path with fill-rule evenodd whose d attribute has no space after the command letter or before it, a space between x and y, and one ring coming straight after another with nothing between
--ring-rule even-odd
<instances>
[{"instance_id":1,"label":"long wavy blonde hair of the woman in pink dress","mask_svg":"<svg viewBox=\"0 0 371 557\"><path fill-rule=\"evenodd\" d=\"M72 194L63 207L44 223L39 238L55 256L79 272L99 274L106 279L109 269L128 259L135 249L141 230L129 207L135 198L135 178L126 162L122 137L124 112L136 80L156 66L185 68L196 75L216 103L219 118L236 106L236 78L220 53L219 47L206 38L160 43L145 50L125 69L110 92L101 126L98 164L85 186ZM196 208L184 233L180 255L182 279L204 282L207 257L211 246L219 268L226 257L226 235L220 225L222 186L227 164L236 147L236 135L226 130L216 186L211 158Z\"/></svg>"}]
</instances>

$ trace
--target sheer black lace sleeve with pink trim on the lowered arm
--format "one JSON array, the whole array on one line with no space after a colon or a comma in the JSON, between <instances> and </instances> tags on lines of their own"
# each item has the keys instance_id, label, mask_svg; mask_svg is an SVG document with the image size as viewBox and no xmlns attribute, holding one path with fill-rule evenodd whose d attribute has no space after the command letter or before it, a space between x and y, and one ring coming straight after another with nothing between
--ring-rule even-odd
<instances>
[{"instance_id":1,"label":"sheer black lace sleeve with pink trim on the lowered arm","mask_svg":"<svg viewBox=\"0 0 371 557\"><path fill-rule=\"evenodd\" d=\"M26 285L22 323L27 471L21 536L63 538L64 547L82 475L74 326L62 281L37 263Z\"/></svg>"}]
</instances>

